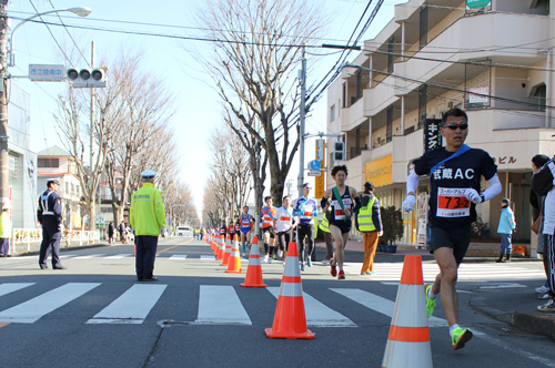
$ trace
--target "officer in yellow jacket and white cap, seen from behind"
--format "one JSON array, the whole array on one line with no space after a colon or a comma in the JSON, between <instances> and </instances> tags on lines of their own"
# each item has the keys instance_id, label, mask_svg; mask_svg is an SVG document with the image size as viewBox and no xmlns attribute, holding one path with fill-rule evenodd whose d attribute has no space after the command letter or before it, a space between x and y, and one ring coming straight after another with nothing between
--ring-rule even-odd
<instances>
[{"instance_id":1,"label":"officer in yellow jacket and white cap, seen from behind","mask_svg":"<svg viewBox=\"0 0 555 368\"><path fill-rule=\"evenodd\" d=\"M134 228L137 257L135 270L139 282L158 282L152 276L157 256L158 236L165 234L165 208L162 194L154 187L152 170L141 173L143 185L131 197L129 222Z\"/></svg>"}]
</instances>

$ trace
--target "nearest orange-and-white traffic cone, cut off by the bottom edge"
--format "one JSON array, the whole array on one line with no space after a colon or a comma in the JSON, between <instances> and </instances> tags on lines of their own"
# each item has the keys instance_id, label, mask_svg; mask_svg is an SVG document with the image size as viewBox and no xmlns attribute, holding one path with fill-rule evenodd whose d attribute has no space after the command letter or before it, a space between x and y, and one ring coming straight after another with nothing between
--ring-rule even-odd
<instances>
[{"instance_id":1,"label":"nearest orange-and-white traffic cone, cut off by the bottom edge","mask_svg":"<svg viewBox=\"0 0 555 368\"><path fill-rule=\"evenodd\" d=\"M405 256L382 368L432 366L422 258Z\"/></svg>"}]
</instances>

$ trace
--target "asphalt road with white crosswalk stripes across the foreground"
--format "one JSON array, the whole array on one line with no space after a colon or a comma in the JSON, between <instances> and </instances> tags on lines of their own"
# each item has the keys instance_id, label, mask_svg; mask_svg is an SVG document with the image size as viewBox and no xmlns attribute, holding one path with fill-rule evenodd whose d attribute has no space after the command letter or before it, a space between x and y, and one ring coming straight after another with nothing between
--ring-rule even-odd
<instances>
[{"instance_id":1,"label":"asphalt road with white crosswalk stripes across the foreground","mask_svg":"<svg viewBox=\"0 0 555 368\"><path fill-rule=\"evenodd\" d=\"M315 338L287 340L264 335L274 319L282 262L262 265L269 288L243 288L248 260L243 274L226 274L199 241L161 239L159 283L135 282L132 254L129 245L65 252L65 270L39 270L37 256L2 258L0 366L381 367L402 257L379 256L375 276L357 275L362 255L355 252L347 253L346 280L320 264L301 273ZM436 308L434 366L555 367L553 341L468 307L484 297L484 286L511 293L541 283L539 263L523 264L525 272L509 277L493 266L468 265L462 273L460 320L475 334L464 349L453 351ZM425 279L434 267L425 257Z\"/></svg>"}]
</instances>

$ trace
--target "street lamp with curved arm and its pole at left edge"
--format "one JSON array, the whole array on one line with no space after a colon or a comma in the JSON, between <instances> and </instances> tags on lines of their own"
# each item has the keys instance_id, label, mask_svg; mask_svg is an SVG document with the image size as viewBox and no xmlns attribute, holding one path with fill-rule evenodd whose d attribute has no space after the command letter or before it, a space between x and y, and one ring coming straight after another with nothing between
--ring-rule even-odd
<instances>
[{"instance_id":1,"label":"street lamp with curved arm and its pole at left edge","mask_svg":"<svg viewBox=\"0 0 555 368\"><path fill-rule=\"evenodd\" d=\"M87 17L91 13L90 8L70 8L63 10L49 10L42 13L34 14L27 19L23 19L18 23L11 31L9 38L9 50L6 54L0 51L0 202L8 202L8 188L9 188L9 170L8 170L8 67L13 67L16 64L16 58L13 55L13 33L23 23L30 21L40 16L49 13L59 13L63 11L70 11L79 17ZM7 16L7 1L0 2L0 44L8 43L8 16ZM9 53L9 58L8 58ZM8 62L9 60L9 62Z\"/></svg>"}]
</instances>

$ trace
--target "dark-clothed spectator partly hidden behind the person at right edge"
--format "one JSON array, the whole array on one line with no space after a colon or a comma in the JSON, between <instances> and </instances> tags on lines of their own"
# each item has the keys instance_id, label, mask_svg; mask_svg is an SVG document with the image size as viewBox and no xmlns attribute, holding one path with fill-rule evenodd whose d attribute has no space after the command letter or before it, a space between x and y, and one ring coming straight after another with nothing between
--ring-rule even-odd
<instances>
[{"instance_id":1,"label":"dark-clothed spectator partly hidden behind the person at right edge","mask_svg":"<svg viewBox=\"0 0 555 368\"><path fill-rule=\"evenodd\" d=\"M532 173L535 174L549 161L549 157L544 154L536 154L532 157ZM547 282L547 272L549 269L547 252L545 244L547 243L547 236L544 233L544 207L545 196L542 196L534 191L529 192L529 204L532 206L532 231L537 234L537 254L542 255L545 270L545 283L542 286L535 288L535 292L539 294L539 299L549 299L549 284ZM536 227L534 227L536 224Z\"/></svg>"}]
</instances>

